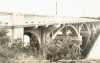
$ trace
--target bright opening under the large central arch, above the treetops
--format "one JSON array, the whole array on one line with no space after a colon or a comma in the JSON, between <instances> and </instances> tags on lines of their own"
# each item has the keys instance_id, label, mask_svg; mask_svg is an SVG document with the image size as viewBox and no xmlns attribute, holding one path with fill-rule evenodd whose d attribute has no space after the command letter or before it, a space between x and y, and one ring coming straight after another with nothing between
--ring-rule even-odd
<instances>
[{"instance_id":1,"label":"bright opening under the large central arch, above the treetops","mask_svg":"<svg viewBox=\"0 0 100 63\"><path fill-rule=\"evenodd\" d=\"M51 36L51 34L50 34L50 36ZM55 33L53 33L53 35L55 36L55 38L58 35L78 37L78 31L73 25L68 25L60 30L57 30Z\"/></svg>"}]
</instances>

